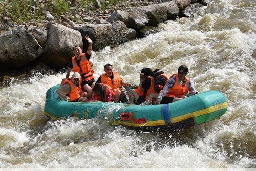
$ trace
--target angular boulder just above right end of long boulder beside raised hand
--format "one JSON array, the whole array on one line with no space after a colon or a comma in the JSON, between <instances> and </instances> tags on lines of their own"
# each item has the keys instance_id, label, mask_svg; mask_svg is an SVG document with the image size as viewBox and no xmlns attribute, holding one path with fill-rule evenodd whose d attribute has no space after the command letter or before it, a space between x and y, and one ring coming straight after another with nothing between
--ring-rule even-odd
<instances>
[{"instance_id":1,"label":"angular boulder just above right end of long boulder beside raised hand","mask_svg":"<svg viewBox=\"0 0 256 171\"><path fill-rule=\"evenodd\" d=\"M148 17L140 8L124 10L128 13L127 27L138 30L148 24Z\"/></svg>"}]
</instances>

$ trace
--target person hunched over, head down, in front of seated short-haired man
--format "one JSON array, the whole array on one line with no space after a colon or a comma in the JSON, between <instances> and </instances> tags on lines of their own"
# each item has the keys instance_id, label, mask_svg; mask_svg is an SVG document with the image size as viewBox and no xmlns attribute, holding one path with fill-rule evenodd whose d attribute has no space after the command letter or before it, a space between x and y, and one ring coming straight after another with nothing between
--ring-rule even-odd
<instances>
[{"instance_id":1,"label":"person hunched over, head down, in front of seated short-haired man","mask_svg":"<svg viewBox=\"0 0 256 171\"><path fill-rule=\"evenodd\" d=\"M114 100L113 90L107 84L96 83L93 90L92 101L112 102Z\"/></svg>"}]
</instances>

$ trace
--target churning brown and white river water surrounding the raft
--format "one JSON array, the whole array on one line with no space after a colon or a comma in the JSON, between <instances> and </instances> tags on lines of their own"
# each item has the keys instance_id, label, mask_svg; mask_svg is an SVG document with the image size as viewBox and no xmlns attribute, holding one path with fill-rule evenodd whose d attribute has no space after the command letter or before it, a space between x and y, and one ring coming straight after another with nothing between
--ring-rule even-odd
<instances>
[{"instance_id":1,"label":"churning brown and white river water surrounding the raft","mask_svg":"<svg viewBox=\"0 0 256 171\"><path fill-rule=\"evenodd\" d=\"M46 91L65 73L37 73L0 89L1 167L256 167L256 1L214 0L193 18L93 53L96 78L112 63L125 82L143 67L187 65L198 91L225 94L228 111L183 132L137 132L99 118L48 121Z\"/></svg>"}]
</instances>

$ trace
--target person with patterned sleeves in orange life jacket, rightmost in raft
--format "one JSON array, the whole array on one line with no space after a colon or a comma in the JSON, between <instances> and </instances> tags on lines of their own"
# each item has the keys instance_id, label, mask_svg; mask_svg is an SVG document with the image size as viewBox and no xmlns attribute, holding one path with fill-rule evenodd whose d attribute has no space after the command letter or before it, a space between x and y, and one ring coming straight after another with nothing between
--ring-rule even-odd
<instances>
[{"instance_id":1,"label":"person with patterned sleeves in orange life jacket, rightmost in raft","mask_svg":"<svg viewBox=\"0 0 256 171\"><path fill-rule=\"evenodd\" d=\"M156 104L168 104L174 101L182 100L187 96L185 94L197 94L193 81L187 77L188 68L182 65L178 68L178 74L173 74L166 82L162 92L159 93Z\"/></svg>"}]
</instances>

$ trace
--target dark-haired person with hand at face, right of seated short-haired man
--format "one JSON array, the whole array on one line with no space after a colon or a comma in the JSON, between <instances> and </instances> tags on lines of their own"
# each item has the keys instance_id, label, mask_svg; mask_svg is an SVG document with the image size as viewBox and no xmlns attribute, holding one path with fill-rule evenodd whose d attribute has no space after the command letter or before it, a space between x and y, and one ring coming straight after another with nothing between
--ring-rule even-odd
<instances>
[{"instance_id":1,"label":"dark-haired person with hand at face, right of seated short-haired man","mask_svg":"<svg viewBox=\"0 0 256 171\"><path fill-rule=\"evenodd\" d=\"M128 91L128 103L140 105L152 92L154 92L153 72L150 68L143 68L140 73L139 87Z\"/></svg>"}]
</instances>

